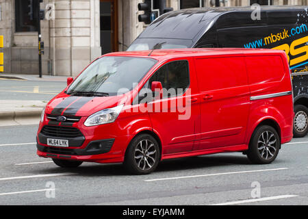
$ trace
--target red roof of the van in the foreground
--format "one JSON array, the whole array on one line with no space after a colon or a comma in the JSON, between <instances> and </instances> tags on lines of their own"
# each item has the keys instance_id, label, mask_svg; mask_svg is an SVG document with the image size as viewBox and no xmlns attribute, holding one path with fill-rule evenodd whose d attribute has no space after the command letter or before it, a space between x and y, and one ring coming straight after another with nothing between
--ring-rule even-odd
<instances>
[{"instance_id":1,"label":"red roof of the van in the foreground","mask_svg":"<svg viewBox=\"0 0 308 219\"><path fill-rule=\"evenodd\" d=\"M103 56L131 56L131 57L152 57L157 60L170 59L174 57L189 57L203 55L233 55L233 54L274 54L284 53L276 49L245 49L245 48L194 48L194 49L154 49L146 51L123 51L107 53Z\"/></svg>"}]
</instances>

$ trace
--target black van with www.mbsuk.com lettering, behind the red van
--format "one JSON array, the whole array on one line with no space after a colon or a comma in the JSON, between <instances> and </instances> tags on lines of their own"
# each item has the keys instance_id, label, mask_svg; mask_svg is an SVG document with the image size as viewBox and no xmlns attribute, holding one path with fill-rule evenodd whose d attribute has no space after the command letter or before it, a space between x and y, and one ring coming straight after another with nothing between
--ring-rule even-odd
<instances>
[{"instance_id":1,"label":"black van with www.mbsuk.com lettering, behind the red van","mask_svg":"<svg viewBox=\"0 0 308 219\"><path fill-rule=\"evenodd\" d=\"M294 137L308 133L308 6L191 8L159 16L128 51L175 48L266 48L287 54L294 90Z\"/></svg>"}]
</instances>

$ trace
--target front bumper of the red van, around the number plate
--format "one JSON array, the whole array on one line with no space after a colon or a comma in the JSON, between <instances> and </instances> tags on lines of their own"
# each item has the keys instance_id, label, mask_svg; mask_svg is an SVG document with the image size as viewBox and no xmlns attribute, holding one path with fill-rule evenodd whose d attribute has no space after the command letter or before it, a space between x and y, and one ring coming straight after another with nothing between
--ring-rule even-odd
<instances>
[{"instance_id":1,"label":"front bumper of the red van, around the number plate","mask_svg":"<svg viewBox=\"0 0 308 219\"><path fill-rule=\"evenodd\" d=\"M78 122L68 126L64 123L51 125L49 124L50 121L44 118L44 122L40 123L38 127L36 138L38 143L37 155L40 157L72 159L84 162L123 162L127 146L133 138L133 135L131 135L127 128L131 118L125 120L118 119L114 123L93 127L85 127L85 120L86 117L81 117ZM45 126L53 129L44 131ZM69 147L49 146L47 138L68 140ZM97 142L103 143L102 146L99 147Z\"/></svg>"}]
</instances>

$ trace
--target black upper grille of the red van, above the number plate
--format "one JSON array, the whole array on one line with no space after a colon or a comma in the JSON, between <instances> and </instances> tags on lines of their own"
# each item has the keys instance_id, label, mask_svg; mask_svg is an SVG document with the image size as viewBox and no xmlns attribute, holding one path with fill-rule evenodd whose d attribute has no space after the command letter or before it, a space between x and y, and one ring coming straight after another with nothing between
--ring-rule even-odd
<instances>
[{"instance_id":1,"label":"black upper grille of the red van, above the number plate","mask_svg":"<svg viewBox=\"0 0 308 219\"><path fill-rule=\"evenodd\" d=\"M53 125L45 125L41 131L45 136L57 138L77 138L83 136L79 129L73 127L61 127Z\"/></svg>"}]
</instances>

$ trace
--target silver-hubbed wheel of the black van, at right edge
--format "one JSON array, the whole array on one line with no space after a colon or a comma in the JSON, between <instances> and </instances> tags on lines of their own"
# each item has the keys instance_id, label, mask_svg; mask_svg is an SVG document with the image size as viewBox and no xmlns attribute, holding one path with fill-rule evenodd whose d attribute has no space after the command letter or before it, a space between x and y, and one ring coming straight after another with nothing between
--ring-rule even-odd
<instances>
[{"instance_id":1,"label":"silver-hubbed wheel of the black van, at right edge","mask_svg":"<svg viewBox=\"0 0 308 219\"><path fill-rule=\"evenodd\" d=\"M294 106L293 136L302 138L308 133L308 108L305 105Z\"/></svg>"}]
</instances>

